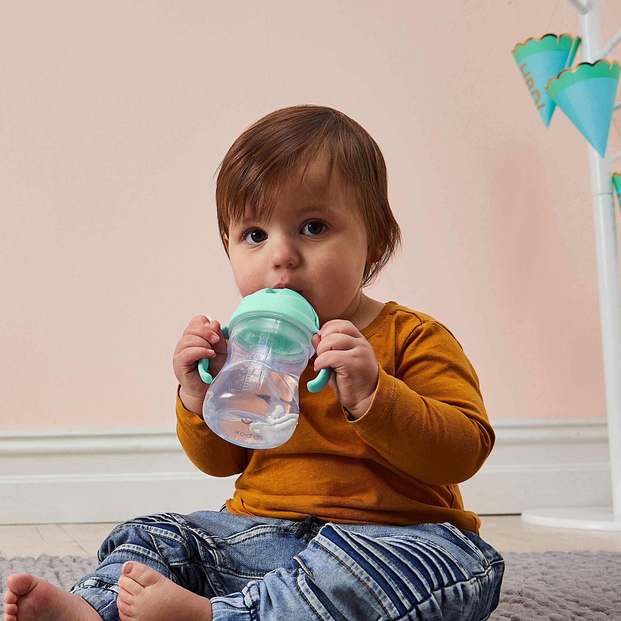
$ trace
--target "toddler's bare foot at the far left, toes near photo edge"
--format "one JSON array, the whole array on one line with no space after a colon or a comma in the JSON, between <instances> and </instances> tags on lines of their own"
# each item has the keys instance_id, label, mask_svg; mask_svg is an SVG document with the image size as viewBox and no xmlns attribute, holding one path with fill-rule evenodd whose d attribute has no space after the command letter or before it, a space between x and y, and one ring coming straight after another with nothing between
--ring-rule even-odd
<instances>
[{"instance_id":1,"label":"toddler's bare foot at the far left, toes near photo edge","mask_svg":"<svg viewBox=\"0 0 621 621\"><path fill-rule=\"evenodd\" d=\"M6 586L4 621L102 621L85 599L43 578L12 574Z\"/></svg>"}]
</instances>

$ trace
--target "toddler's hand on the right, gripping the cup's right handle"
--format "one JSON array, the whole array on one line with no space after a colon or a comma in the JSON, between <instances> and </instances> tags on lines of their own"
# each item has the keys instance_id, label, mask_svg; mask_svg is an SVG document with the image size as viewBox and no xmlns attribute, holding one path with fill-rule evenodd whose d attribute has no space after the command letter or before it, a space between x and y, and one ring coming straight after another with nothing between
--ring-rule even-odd
<instances>
[{"instance_id":1,"label":"toddler's hand on the right, gripping the cup's right handle","mask_svg":"<svg viewBox=\"0 0 621 621\"><path fill-rule=\"evenodd\" d=\"M332 319L312 337L315 371L331 366L328 384L338 401L359 419L369 409L378 387L379 365L373 347L350 321Z\"/></svg>"}]
</instances>

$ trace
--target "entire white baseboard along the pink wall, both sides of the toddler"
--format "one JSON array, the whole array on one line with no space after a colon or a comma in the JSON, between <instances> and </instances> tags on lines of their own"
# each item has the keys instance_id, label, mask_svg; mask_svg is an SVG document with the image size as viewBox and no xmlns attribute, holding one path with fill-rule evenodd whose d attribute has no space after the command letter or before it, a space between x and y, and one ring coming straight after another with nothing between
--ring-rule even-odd
<instances>
[{"instance_id":1,"label":"entire white baseboard along the pink wall, both sides of the toddler","mask_svg":"<svg viewBox=\"0 0 621 621\"><path fill-rule=\"evenodd\" d=\"M466 509L610 504L605 419L492 421L496 446L461 484ZM235 476L184 455L174 427L0 431L0 524L121 522L162 511L218 510Z\"/></svg>"}]
</instances>

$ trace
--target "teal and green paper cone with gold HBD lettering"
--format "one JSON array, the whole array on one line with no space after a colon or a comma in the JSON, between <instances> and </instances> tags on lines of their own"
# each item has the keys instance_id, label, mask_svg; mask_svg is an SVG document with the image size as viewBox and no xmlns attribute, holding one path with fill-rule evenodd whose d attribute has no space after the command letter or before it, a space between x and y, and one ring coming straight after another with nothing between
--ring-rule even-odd
<instances>
[{"instance_id":1,"label":"teal and green paper cone with gold HBD lettering","mask_svg":"<svg viewBox=\"0 0 621 621\"><path fill-rule=\"evenodd\" d=\"M579 37L547 34L541 39L527 39L513 48L515 62L546 127L550 125L556 104L545 92L545 87L550 78L571 67L579 45Z\"/></svg>"}]
</instances>

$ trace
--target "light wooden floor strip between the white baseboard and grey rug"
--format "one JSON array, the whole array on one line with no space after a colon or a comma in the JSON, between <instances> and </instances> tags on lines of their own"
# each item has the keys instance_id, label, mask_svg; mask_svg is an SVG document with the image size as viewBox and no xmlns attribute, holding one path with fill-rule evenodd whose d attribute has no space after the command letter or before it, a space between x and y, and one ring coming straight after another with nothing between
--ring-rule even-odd
<instances>
[{"instance_id":1,"label":"light wooden floor strip between the white baseboard and grey rug","mask_svg":"<svg viewBox=\"0 0 621 621\"><path fill-rule=\"evenodd\" d=\"M519 515L482 515L481 537L501 552L621 551L621 532L524 524ZM94 556L116 524L0 525L0 557Z\"/></svg>"}]
</instances>

